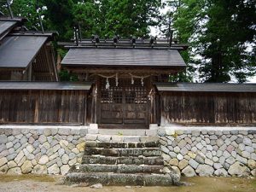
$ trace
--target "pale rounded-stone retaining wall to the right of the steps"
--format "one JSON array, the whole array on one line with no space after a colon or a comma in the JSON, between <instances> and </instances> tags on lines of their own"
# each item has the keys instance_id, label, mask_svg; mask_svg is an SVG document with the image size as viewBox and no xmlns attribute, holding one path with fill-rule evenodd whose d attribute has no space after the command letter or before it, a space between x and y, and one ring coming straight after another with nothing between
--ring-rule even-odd
<instances>
[{"instance_id":1,"label":"pale rounded-stone retaining wall to the right of the steps","mask_svg":"<svg viewBox=\"0 0 256 192\"><path fill-rule=\"evenodd\" d=\"M256 176L256 129L166 128L158 131L165 164L184 176Z\"/></svg>"}]
</instances>

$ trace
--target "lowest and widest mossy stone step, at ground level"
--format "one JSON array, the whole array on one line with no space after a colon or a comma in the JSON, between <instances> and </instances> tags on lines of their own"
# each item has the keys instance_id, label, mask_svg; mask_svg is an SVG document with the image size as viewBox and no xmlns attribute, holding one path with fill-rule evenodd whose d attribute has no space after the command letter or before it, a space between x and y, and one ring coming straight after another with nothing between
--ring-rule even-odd
<instances>
[{"instance_id":1,"label":"lowest and widest mossy stone step, at ground level","mask_svg":"<svg viewBox=\"0 0 256 192\"><path fill-rule=\"evenodd\" d=\"M140 185L140 186L171 186L172 177L168 174L126 174L113 172L72 172L67 173L64 183L89 183L102 185Z\"/></svg>"}]
</instances>

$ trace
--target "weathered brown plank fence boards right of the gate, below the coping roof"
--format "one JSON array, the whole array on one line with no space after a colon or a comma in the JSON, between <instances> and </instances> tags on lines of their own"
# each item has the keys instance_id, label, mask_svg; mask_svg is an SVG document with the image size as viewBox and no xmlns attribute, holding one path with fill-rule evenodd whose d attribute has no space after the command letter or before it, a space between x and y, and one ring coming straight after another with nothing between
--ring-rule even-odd
<instances>
[{"instance_id":1,"label":"weathered brown plank fence boards right of the gate, below the coping roof","mask_svg":"<svg viewBox=\"0 0 256 192\"><path fill-rule=\"evenodd\" d=\"M256 93L162 92L161 123L256 123Z\"/></svg>"}]
</instances>

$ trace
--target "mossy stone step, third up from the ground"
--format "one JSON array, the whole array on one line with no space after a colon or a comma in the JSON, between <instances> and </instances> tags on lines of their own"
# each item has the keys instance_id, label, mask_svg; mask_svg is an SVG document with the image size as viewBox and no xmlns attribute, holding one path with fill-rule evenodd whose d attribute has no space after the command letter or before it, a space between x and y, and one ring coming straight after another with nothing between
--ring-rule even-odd
<instances>
[{"instance_id":1,"label":"mossy stone step, third up from the ground","mask_svg":"<svg viewBox=\"0 0 256 192\"><path fill-rule=\"evenodd\" d=\"M100 156L100 155L84 155L82 164L126 164L126 165L164 165L164 160L161 156L153 157L111 157L111 156Z\"/></svg>"}]
</instances>

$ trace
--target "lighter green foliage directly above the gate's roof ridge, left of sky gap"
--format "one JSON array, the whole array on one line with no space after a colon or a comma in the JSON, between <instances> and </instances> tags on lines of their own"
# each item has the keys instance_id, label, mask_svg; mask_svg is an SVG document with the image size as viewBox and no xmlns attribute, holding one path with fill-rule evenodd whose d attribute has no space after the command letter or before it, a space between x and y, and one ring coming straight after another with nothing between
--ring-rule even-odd
<instances>
[{"instance_id":1,"label":"lighter green foliage directly above the gate's roof ridge, left of sky gap","mask_svg":"<svg viewBox=\"0 0 256 192\"><path fill-rule=\"evenodd\" d=\"M86 38L91 34L143 37L148 36L149 26L159 23L159 8L159 0L89 0L76 3L73 15Z\"/></svg>"}]
</instances>

